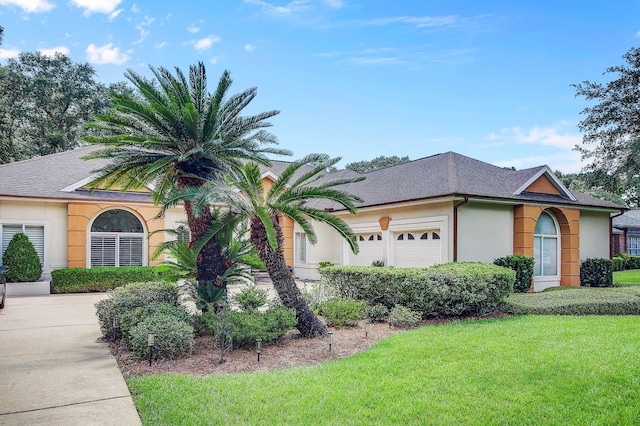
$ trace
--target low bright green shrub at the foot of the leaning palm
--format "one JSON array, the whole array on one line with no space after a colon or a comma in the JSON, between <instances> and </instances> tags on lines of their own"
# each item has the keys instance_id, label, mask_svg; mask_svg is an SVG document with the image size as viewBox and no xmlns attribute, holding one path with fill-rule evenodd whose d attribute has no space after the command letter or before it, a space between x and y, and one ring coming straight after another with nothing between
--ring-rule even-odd
<instances>
[{"instance_id":1,"label":"low bright green shrub at the foot of the leaning palm","mask_svg":"<svg viewBox=\"0 0 640 426\"><path fill-rule=\"evenodd\" d=\"M274 341L284 336L298 323L293 309L269 309L265 313L259 312L230 312L234 347L254 347L256 339L263 343ZM221 321L213 311L202 314L201 322L210 334L215 336Z\"/></svg>"}]
</instances>

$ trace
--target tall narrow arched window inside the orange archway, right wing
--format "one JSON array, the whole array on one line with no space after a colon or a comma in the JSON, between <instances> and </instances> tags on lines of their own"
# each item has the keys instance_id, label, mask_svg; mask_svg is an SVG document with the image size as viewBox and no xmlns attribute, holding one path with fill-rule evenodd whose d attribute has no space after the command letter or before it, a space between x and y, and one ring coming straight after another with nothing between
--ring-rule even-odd
<instances>
[{"instance_id":1,"label":"tall narrow arched window inside the orange archway, right wing","mask_svg":"<svg viewBox=\"0 0 640 426\"><path fill-rule=\"evenodd\" d=\"M533 274L537 277L558 274L558 226L555 219L542 212L533 231Z\"/></svg>"}]
</instances>

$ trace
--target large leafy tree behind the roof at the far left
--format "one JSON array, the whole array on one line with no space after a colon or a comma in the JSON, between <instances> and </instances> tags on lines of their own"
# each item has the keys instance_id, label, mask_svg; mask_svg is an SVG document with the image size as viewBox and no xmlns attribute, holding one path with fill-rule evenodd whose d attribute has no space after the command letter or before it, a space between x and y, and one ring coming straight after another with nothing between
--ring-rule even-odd
<instances>
[{"instance_id":1,"label":"large leafy tree behind the roof at the far left","mask_svg":"<svg viewBox=\"0 0 640 426\"><path fill-rule=\"evenodd\" d=\"M0 66L0 162L73 149L109 103L88 63L23 52Z\"/></svg>"}]
</instances>

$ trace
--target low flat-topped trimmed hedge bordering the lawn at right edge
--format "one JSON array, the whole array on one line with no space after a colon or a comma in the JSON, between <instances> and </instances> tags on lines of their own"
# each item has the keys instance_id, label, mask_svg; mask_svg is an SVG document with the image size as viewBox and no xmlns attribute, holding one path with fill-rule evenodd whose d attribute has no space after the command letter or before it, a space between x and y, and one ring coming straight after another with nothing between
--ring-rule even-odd
<instances>
[{"instance_id":1,"label":"low flat-topped trimmed hedge bordering the lawn at right edge","mask_svg":"<svg viewBox=\"0 0 640 426\"><path fill-rule=\"evenodd\" d=\"M515 315L639 315L640 286L554 287L534 294L513 294L505 312Z\"/></svg>"}]
</instances>

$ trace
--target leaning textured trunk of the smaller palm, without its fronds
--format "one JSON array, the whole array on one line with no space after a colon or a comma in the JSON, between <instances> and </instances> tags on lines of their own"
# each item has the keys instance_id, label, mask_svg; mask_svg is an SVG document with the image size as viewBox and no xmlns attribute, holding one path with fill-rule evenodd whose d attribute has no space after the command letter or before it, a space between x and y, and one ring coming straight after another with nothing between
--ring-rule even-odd
<instances>
[{"instance_id":1,"label":"leaning textured trunk of the smaller palm, without its fronds","mask_svg":"<svg viewBox=\"0 0 640 426\"><path fill-rule=\"evenodd\" d=\"M295 309L296 317L298 318L298 325L296 326L298 331L304 337L325 335L327 334L327 328L309 308L289 271L282 249L284 237L278 219L272 218L272 221L278 236L278 248L273 249L271 247L267 240L264 225L257 218L251 221L251 244L258 251L260 260L267 268L282 304L287 308Z\"/></svg>"}]
</instances>

